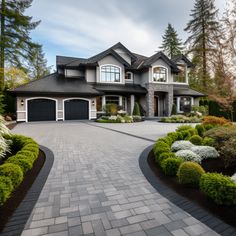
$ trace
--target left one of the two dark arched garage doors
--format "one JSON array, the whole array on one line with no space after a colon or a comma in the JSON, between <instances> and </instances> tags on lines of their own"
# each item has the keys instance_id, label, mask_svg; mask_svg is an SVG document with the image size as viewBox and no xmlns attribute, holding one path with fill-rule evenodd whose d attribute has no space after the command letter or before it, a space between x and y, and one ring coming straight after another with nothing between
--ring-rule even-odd
<instances>
[{"instance_id":1,"label":"left one of the two dark arched garage doors","mask_svg":"<svg viewBox=\"0 0 236 236\"><path fill-rule=\"evenodd\" d=\"M50 99L28 101L28 121L56 120L56 102Z\"/></svg>"}]
</instances>

